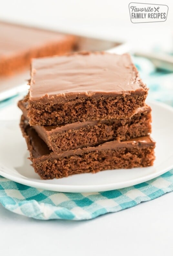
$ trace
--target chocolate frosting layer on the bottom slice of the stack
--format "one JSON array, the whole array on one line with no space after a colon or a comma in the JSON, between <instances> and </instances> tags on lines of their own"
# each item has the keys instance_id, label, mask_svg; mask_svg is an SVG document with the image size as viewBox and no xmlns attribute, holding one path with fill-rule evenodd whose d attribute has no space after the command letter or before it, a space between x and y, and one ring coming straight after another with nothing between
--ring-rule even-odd
<instances>
[{"instance_id":1,"label":"chocolate frosting layer on the bottom slice of the stack","mask_svg":"<svg viewBox=\"0 0 173 256\"><path fill-rule=\"evenodd\" d=\"M115 141L109 141L106 143L103 143L102 145L98 145L95 147L87 147L87 148L78 148L75 150L68 150L63 153L55 154L53 153L46 143L38 136L35 129L32 126L28 125L28 122L25 120L25 122L21 126L23 129L24 136L29 136L30 144L32 146L31 149L31 155L32 158L48 158L48 159L55 159L55 158L61 158L61 157L68 157L68 156L74 156L74 155L82 155L88 152L93 151L101 151L101 150L116 150L117 148L130 148L130 147L146 147L146 146L155 146L155 142L149 137L138 137L135 139L130 139L128 141L119 142L117 140Z\"/></svg>"}]
</instances>

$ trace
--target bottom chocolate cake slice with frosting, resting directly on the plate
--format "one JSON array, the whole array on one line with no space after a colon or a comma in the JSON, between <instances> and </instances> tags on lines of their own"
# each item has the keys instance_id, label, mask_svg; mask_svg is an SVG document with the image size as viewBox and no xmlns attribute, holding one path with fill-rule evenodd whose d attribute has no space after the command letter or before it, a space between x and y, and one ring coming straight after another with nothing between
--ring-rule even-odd
<instances>
[{"instance_id":1,"label":"bottom chocolate cake slice with frosting, resting directly on the plate","mask_svg":"<svg viewBox=\"0 0 173 256\"><path fill-rule=\"evenodd\" d=\"M147 167L153 165L155 159L155 142L149 136L125 142L110 141L96 147L55 154L35 129L28 125L24 116L21 117L20 127L33 167L45 180L107 169Z\"/></svg>"}]
</instances>

